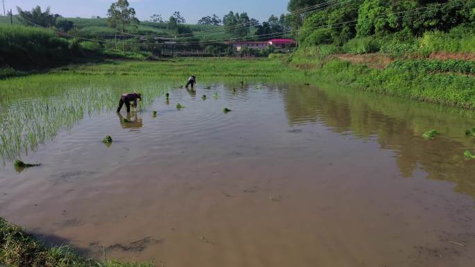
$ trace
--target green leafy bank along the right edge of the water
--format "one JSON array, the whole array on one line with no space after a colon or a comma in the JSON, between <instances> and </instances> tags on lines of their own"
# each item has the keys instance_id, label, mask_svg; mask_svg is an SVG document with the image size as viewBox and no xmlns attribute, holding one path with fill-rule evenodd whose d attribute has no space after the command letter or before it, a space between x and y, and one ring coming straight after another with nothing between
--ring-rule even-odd
<instances>
[{"instance_id":1,"label":"green leafy bank along the right edge of the water","mask_svg":"<svg viewBox=\"0 0 475 267\"><path fill-rule=\"evenodd\" d=\"M455 63L395 62L386 69L372 69L335 58L320 60L294 55L291 64L306 69L308 76L319 77L322 82L331 81L367 92L475 110L475 78L466 75L472 73L472 64L467 62L462 66L460 62ZM451 65L460 67L465 74L447 72Z\"/></svg>"}]
</instances>

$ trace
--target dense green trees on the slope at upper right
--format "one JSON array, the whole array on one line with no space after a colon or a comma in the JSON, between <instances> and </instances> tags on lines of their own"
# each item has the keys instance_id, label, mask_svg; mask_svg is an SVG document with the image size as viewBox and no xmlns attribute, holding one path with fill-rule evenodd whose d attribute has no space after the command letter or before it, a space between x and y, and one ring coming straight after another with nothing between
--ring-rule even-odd
<instances>
[{"instance_id":1,"label":"dense green trees on the slope at upper right","mask_svg":"<svg viewBox=\"0 0 475 267\"><path fill-rule=\"evenodd\" d=\"M473 0L290 0L288 10L319 5L309 14L294 16L304 45L342 45L355 37L383 37L400 33L421 36L426 31L474 28Z\"/></svg>"}]
</instances>

